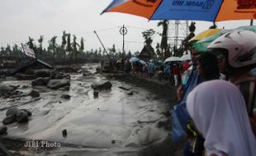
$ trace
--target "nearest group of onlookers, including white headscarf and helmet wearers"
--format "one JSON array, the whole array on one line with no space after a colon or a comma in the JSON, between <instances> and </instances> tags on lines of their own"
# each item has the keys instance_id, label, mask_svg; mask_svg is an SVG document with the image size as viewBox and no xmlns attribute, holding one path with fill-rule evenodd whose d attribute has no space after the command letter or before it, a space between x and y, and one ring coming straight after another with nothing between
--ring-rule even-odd
<instances>
[{"instance_id":1,"label":"nearest group of onlookers, including white headscarf and helmet wearers","mask_svg":"<svg viewBox=\"0 0 256 156\"><path fill-rule=\"evenodd\" d=\"M255 41L255 32L234 30L206 53L192 49L192 72L177 89L172 116L187 134L185 156L256 155Z\"/></svg>"}]
</instances>

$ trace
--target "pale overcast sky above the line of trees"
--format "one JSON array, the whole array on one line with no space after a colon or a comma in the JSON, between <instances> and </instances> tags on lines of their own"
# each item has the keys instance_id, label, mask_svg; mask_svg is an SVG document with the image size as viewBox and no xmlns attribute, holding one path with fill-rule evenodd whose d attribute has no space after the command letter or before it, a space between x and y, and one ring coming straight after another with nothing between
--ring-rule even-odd
<instances>
[{"instance_id":1,"label":"pale overcast sky above the line of trees","mask_svg":"<svg viewBox=\"0 0 256 156\"><path fill-rule=\"evenodd\" d=\"M58 36L60 44L62 31L75 34L78 38L85 39L85 50L102 47L93 34L93 30L102 39L106 48L116 44L116 48L122 49L122 36L119 34L121 25L128 29L126 34L126 51L132 53L143 48L144 39L141 32L154 29L158 21L148 21L140 16L109 12L100 13L111 0L0 0L0 47L7 44L13 45L25 43L28 36L39 39L40 34L45 37L45 45L51 37ZM191 21L189 21L191 22ZM196 21L196 34L211 26L211 22ZM225 29L235 28L241 25L249 25L249 21L225 21L217 25ZM154 35L154 43L160 42L159 34Z\"/></svg>"}]
</instances>

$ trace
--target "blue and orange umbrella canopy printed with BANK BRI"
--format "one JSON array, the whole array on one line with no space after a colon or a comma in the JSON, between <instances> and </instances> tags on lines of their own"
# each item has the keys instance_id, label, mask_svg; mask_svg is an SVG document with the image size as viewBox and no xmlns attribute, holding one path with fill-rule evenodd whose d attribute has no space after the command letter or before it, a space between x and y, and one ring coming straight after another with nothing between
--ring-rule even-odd
<instances>
[{"instance_id":1,"label":"blue and orange umbrella canopy printed with BANK BRI","mask_svg":"<svg viewBox=\"0 0 256 156\"><path fill-rule=\"evenodd\" d=\"M117 11L149 20L227 21L255 19L254 5L240 0L113 0L102 13Z\"/></svg>"}]
</instances>

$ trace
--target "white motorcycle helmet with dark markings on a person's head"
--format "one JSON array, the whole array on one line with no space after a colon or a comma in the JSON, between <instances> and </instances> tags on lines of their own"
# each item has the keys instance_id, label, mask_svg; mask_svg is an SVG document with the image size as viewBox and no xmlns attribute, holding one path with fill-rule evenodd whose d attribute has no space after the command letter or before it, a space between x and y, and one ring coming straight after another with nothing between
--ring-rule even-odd
<instances>
[{"instance_id":1,"label":"white motorcycle helmet with dark markings on a person's head","mask_svg":"<svg viewBox=\"0 0 256 156\"><path fill-rule=\"evenodd\" d=\"M207 48L225 54L230 67L256 64L256 33L253 31L228 32L215 39Z\"/></svg>"}]
</instances>

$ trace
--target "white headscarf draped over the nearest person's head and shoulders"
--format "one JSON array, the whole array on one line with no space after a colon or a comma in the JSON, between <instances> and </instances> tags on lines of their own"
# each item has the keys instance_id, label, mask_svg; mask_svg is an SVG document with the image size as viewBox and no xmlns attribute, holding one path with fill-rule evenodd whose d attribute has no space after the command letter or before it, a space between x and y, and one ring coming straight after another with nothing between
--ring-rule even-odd
<instances>
[{"instance_id":1,"label":"white headscarf draped over the nearest person's head and shoulders","mask_svg":"<svg viewBox=\"0 0 256 156\"><path fill-rule=\"evenodd\" d=\"M187 96L187 111L205 138L206 154L256 155L243 95L225 80L197 85Z\"/></svg>"}]
</instances>

